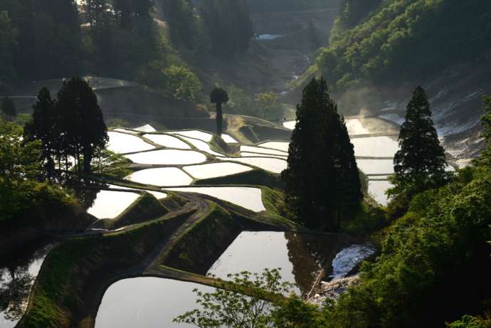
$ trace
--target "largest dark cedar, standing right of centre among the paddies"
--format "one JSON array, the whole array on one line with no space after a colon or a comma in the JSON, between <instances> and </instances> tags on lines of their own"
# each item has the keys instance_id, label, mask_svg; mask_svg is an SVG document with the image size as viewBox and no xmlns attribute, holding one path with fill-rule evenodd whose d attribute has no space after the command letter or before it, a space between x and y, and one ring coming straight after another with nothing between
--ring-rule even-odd
<instances>
[{"instance_id":1,"label":"largest dark cedar, standing right of centre among the paddies","mask_svg":"<svg viewBox=\"0 0 491 328\"><path fill-rule=\"evenodd\" d=\"M354 147L324 78L303 90L287 162L285 203L297 220L337 231L354 216L363 199Z\"/></svg>"}]
</instances>

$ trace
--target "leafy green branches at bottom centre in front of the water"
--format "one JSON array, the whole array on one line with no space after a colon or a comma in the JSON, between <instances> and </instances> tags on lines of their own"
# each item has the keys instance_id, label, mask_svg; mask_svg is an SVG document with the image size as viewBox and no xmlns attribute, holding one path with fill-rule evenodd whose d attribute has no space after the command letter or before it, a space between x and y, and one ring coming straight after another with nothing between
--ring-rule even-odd
<instances>
[{"instance_id":1,"label":"leafy green branches at bottom centre in front of the water","mask_svg":"<svg viewBox=\"0 0 491 328\"><path fill-rule=\"evenodd\" d=\"M281 282L278 269L265 269L261 274L245 271L228 275L228 279L236 290L253 296L218 288L214 292L194 290L199 309L176 317L174 322L199 328L320 328L324 323L317 307L293 295L283 296L292 293L292 285ZM267 301L272 298L275 301Z\"/></svg>"}]
</instances>

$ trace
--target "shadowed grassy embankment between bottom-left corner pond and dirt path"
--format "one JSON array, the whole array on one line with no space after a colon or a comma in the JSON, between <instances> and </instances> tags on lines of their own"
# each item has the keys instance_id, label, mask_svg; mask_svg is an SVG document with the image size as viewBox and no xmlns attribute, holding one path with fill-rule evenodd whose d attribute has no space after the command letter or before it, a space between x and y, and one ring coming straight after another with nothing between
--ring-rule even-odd
<instances>
[{"instance_id":1,"label":"shadowed grassy embankment between bottom-left corner pond and dirt path","mask_svg":"<svg viewBox=\"0 0 491 328\"><path fill-rule=\"evenodd\" d=\"M46 258L31 292L26 315L17 327L74 327L90 315L97 286L118 271L138 265L178 228L189 213L142 223L127 231L72 238Z\"/></svg>"}]
</instances>

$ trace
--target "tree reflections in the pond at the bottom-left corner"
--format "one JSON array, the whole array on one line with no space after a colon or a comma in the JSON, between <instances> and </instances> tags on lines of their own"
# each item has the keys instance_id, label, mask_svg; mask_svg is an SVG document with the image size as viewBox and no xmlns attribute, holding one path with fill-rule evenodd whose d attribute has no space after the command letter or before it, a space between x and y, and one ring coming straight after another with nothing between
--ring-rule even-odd
<instances>
[{"instance_id":1,"label":"tree reflections in the pond at the bottom-left corner","mask_svg":"<svg viewBox=\"0 0 491 328\"><path fill-rule=\"evenodd\" d=\"M0 316L12 321L21 319L39 261L50 249L51 246L46 246L20 256L12 255L16 260L0 265Z\"/></svg>"}]
</instances>

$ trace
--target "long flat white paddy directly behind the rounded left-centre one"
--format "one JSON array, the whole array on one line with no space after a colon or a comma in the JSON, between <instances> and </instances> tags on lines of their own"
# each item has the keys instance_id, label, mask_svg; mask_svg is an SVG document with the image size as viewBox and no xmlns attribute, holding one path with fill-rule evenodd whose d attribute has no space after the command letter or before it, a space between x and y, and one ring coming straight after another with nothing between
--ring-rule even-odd
<instances>
[{"instance_id":1,"label":"long flat white paddy directly behind the rounded left-centre one","mask_svg":"<svg viewBox=\"0 0 491 328\"><path fill-rule=\"evenodd\" d=\"M134 163L156 165L189 165L206 161L206 156L192 150L162 149L126 155Z\"/></svg>"}]
</instances>

